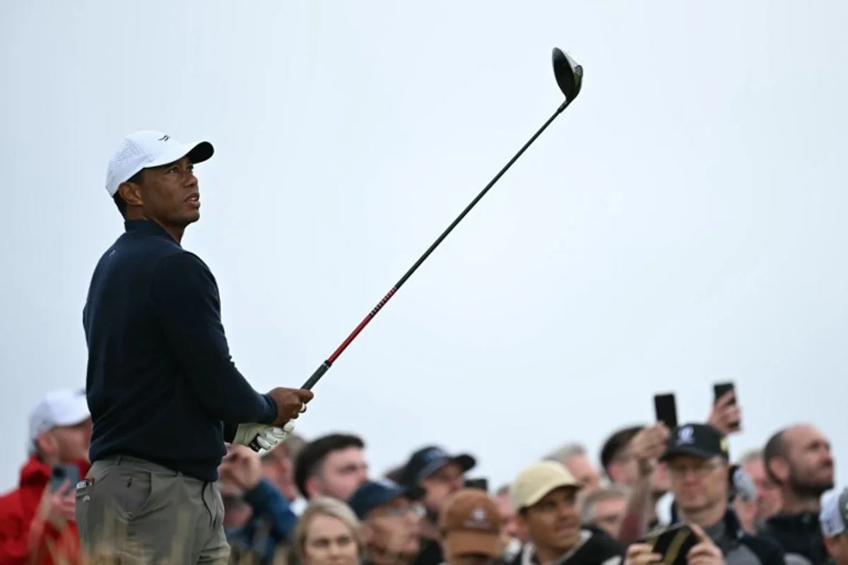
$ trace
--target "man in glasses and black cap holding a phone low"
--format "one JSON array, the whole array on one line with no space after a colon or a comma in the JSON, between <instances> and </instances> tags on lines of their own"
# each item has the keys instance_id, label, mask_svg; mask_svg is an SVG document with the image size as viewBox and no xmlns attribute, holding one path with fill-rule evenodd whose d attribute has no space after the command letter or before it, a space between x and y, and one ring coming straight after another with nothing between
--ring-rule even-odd
<instances>
[{"instance_id":1,"label":"man in glasses and black cap holding a phone low","mask_svg":"<svg viewBox=\"0 0 848 565\"><path fill-rule=\"evenodd\" d=\"M661 460L666 463L675 510L688 527L689 550L673 562L688 565L784 565L773 541L748 535L729 506L730 463L727 438L707 424L685 424L672 433ZM652 537L652 536L649 536ZM650 543L628 547L626 565L650 565L663 555Z\"/></svg>"}]
</instances>

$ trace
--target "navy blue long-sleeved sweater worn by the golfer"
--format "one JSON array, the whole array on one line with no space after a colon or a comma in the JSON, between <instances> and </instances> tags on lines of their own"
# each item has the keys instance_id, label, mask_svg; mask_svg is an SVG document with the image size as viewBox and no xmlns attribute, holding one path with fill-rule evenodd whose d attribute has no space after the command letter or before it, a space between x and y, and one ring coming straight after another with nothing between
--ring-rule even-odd
<instances>
[{"instance_id":1,"label":"navy blue long-sleeved sweater worn by the golfer","mask_svg":"<svg viewBox=\"0 0 848 565\"><path fill-rule=\"evenodd\" d=\"M103 253L83 309L94 461L141 457L218 479L238 424L276 404L232 363L209 268L159 224L130 220Z\"/></svg>"}]
</instances>

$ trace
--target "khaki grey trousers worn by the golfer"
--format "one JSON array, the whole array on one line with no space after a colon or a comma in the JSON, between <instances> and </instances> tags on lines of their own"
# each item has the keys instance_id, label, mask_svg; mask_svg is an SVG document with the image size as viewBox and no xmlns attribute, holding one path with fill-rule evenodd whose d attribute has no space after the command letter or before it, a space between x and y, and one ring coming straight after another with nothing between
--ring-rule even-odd
<instances>
[{"instance_id":1,"label":"khaki grey trousers worn by the golfer","mask_svg":"<svg viewBox=\"0 0 848 565\"><path fill-rule=\"evenodd\" d=\"M90 565L226 565L223 519L215 483L136 457L93 463L76 489L76 523Z\"/></svg>"}]
</instances>

